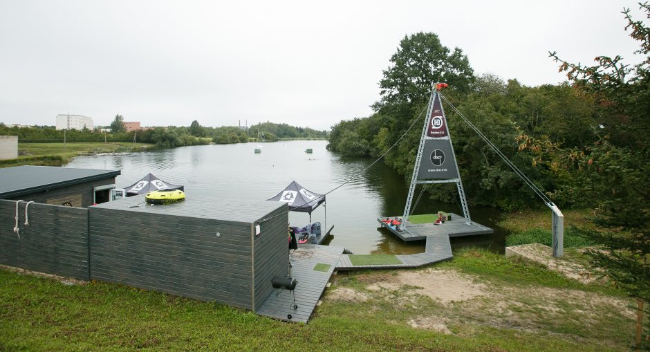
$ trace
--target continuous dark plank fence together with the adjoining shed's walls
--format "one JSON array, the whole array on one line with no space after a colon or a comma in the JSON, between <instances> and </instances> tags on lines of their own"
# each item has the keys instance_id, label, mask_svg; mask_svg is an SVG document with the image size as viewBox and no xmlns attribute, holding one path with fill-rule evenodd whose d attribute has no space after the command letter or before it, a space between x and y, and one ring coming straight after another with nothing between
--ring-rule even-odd
<instances>
[{"instance_id":1,"label":"continuous dark plank fence together with the adjoining shed's walls","mask_svg":"<svg viewBox=\"0 0 650 352\"><path fill-rule=\"evenodd\" d=\"M287 273L284 204L266 204L268 220L257 221L154 212L162 207L136 212L121 210L120 204L128 205L110 202L85 209L31 203L29 225L24 225L26 203L20 203L18 237L13 231L16 202L0 200L0 263L252 311L272 293L272 278ZM183 207L179 213L201 214L207 211L204 204L179 203ZM230 205L221 206L209 211L221 214ZM261 233L256 235L254 226L259 222Z\"/></svg>"}]
</instances>

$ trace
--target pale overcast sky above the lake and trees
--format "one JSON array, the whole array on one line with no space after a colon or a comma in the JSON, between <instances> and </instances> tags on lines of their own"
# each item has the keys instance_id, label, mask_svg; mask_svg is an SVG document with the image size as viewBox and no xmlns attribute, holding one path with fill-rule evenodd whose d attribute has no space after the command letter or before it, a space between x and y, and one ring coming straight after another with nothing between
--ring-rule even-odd
<instances>
[{"instance_id":1,"label":"pale overcast sky above the lake and trees","mask_svg":"<svg viewBox=\"0 0 650 352\"><path fill-rule=\"evenodd\" d=\"M437 33L477 74L537 86L564 80L549 50L638 62L624 6L643 19L636 1L0 0L0 122L329 129L371 113L405 35Z\"/></svg>"}]
</instances>

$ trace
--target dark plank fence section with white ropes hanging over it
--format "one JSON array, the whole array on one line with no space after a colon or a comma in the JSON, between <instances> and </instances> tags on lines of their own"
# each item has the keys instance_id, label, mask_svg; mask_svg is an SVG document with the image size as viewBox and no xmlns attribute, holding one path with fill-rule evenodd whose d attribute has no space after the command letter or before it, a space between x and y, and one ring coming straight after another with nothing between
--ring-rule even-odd
<instances>
[{"instance_id":1,"label":"dark plank fence section with white ropes hanging over it","mask_svg":"<svg viewBox=\"0 0 650 352\"><path fill-rule=\"evenodd\" d=\"M88 210L0 200L0 264L89 280ZM20 237L19 237L20 235Z\"/></svg>"}]
</instances>

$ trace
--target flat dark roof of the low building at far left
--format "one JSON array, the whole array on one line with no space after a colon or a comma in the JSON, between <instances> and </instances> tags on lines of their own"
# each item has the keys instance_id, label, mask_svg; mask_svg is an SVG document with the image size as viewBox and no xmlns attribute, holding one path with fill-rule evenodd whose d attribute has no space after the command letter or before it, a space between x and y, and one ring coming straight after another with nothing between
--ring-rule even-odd
<instances>
[{"instance_id":1,"label":"flat dark roof of the low building at far left","mask_svg":"<svg viewBox=\"0 0 650 352\"><path fill-rule=\"evenodd\" d=\"M115 177L120 170L73 169L53 166L17 166L0 169L0 198Z\"/></svg>"}]
</instances>

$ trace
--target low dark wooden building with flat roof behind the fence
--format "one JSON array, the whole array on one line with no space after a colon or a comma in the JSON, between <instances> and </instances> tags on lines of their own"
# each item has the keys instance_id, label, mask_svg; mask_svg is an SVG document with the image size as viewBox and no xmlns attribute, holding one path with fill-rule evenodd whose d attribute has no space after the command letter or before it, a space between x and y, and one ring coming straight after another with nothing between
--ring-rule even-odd
<instances>
[{"instance_id":1,"label":"low dark wooden building with flat roof behind the fence","mask_svg":"<svg viewBox=\"0 0 650 352\"><path fill-rule=\"evenodd\" d=\"M0 169L0 199L89 207L104 203L120 170L17 166Z\"/></svg>"}]
</instances>

